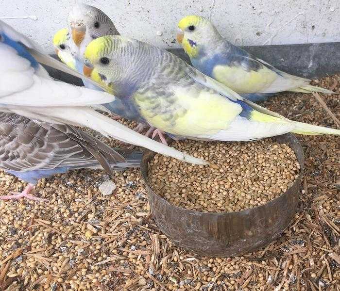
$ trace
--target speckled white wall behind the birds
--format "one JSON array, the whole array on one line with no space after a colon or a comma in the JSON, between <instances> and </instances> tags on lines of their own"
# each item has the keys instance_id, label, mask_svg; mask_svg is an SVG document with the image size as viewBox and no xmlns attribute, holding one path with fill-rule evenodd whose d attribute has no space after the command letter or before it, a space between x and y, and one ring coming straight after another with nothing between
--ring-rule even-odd
<instances>
[{"instance_id":1,"label":"speckled white wall behind the birds","mask_svg":"<svg viewBox=\"0 0 340 291\"><path fill-rule=\"evenodd\" d=\"M66 26L75 0L0 0L0 17L52 52L51 37ZM237 45L277 45L340 41L340 0L92 0L123 35L153 45L178 47L178 20L200 14ZM282 4L279 4L279 3ZM161 34L161 35L160 35Z\"/></svg>"}]
</instances>

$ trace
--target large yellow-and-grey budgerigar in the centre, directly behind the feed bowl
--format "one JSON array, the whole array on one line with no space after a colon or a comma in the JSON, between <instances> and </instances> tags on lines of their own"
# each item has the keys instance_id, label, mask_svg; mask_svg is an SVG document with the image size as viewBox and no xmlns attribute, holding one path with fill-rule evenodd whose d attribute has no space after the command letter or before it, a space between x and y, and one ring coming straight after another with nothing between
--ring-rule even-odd
<instances>
[{"instance_id":1,"label":"large yellow-and-grey budgerigar in the centre, directly behind the feed bowl","mask_svg":"<svg viewBox=\"0 0 340 291\"><path fill-rule=\"evenodd\" d=\"M250 141L286 132L340 134L243 99L170 52L121 36L103 36L85 50L84 73L135 106L153 127L179 137Z\"/></svg>"}]
</instances>

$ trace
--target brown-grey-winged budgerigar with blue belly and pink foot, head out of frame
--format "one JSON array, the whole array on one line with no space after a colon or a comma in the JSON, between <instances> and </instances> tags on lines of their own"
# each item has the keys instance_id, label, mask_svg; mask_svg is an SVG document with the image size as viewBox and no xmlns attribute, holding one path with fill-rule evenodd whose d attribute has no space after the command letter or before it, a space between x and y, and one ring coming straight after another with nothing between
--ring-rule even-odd
<instances>
[{"instance_id":1,"label":"brown-grey-winged budgerigar with blue belly and pink foot, head out of frame","mask_svg":"<svg viewBox=\"0 0 340 291\"><path fill-rule=\"evenodd\" d=\"M73 126L36 122L29 118L0 112L0 168L28 182L21 193L0 199L26 197L40 178L76 169L112 170L139 167L140 152L113 149Z\"/></svg>"}]
</instances>

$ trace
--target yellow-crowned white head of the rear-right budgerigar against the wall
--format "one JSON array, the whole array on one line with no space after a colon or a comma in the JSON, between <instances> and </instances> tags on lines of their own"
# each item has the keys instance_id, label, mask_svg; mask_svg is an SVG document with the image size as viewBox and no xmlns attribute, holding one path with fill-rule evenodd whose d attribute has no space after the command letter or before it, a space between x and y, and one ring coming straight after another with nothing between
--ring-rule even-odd
<instances>
[{"instance_id":1,"label":"yellow-crowned white head of the rear-right budgerigar against the wall","mask_svg":"<svg viewBox=\"0 0 340 291\"><path fill-rule=\"evenodd\" d=\"M182 44L190 58L195 58L200 50L221 37L213 24L203 16L190 15L178 22L177 41Z\"/></svg>"}]
</instances>

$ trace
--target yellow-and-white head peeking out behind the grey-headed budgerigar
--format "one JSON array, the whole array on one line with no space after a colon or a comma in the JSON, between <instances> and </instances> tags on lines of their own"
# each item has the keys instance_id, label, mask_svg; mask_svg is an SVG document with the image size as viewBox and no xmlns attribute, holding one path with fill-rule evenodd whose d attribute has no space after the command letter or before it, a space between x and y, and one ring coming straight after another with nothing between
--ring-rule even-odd
<instances>
[{"instance_id":1,"label":"yellow-and-white head peeking out behind the grey-headed budgerigar","mask_svg":"<svg viewBox=\"0 0 340 291\"><path fill-rule=\"evenodd\" d=\"M76 69L76 60L69 48L70 34L67 28L63 28L54 34L53 46L59 59L72 69Z\"/></svg>"}]
</instances>

